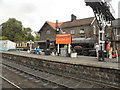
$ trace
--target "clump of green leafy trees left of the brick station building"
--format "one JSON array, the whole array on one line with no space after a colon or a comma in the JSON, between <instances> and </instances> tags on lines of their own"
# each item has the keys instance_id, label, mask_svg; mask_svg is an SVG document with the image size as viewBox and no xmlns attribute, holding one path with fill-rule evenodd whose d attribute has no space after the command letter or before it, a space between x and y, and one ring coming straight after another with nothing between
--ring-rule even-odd
<instances>
[{"instance_id":1,"label":"clump of green leafy trees left of the brick station building","mask_svg":"<svg viewBox=\"0 0 120 90\"><path fill-rule=\"evenodd\" d=\"M2 25L2 35L7 37L7 39L16 41L34 40L32 36L31 28L24 28L21 21L15 18L10 18L7 22Z\"/></svg>"}]
</instances>

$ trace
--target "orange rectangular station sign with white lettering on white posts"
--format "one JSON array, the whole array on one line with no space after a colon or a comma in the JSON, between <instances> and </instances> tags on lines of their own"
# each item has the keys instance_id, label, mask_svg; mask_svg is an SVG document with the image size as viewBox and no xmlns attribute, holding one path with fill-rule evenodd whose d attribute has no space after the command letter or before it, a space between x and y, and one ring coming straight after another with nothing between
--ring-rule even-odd
<instances>
[{"instance_id":1,"label":"orange rectangular station sign with white lettering on white posts","mask_svg":"<svg viewBox=\"0 0 120 90\"><path fill-rule=\"evenodd\" d=\"M56 44L71 44L71 34L58 34L56 35Z\"/></svg>"}]
</instances>

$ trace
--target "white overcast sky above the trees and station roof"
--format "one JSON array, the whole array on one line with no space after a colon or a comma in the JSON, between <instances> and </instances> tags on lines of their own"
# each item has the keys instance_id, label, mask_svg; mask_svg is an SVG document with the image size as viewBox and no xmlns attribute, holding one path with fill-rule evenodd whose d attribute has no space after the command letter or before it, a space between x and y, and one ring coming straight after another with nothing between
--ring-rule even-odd
<instances>
[{"instance_id":1,"label":"white overcast sky above the trees and station roof","mask_svg":"<svg viewBox=\"0 0 120 90\"><path fill-rule=\"evenodd\" d=\"M118 18L119 1L111 2L115 18ZM33 31L38 31L45 21L70 21L71 14L76 15L77 19L94 16L84 0L0 0L0 24L9 18L16 18Z\"/></svg>"}]
</instances>

